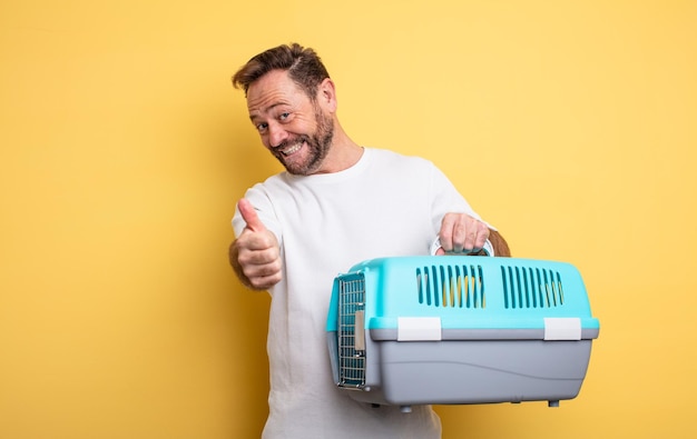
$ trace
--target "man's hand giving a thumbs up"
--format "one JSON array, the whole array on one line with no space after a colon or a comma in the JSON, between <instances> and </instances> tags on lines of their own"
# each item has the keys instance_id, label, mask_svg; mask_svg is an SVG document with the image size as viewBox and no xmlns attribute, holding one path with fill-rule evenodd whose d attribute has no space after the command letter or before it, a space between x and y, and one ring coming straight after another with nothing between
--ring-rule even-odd
<instances>
[{"instance_id":1,"label":"man's hand giving a thumbs up","mask_svg":"<svg viewBox=\"0 0 697 439\"><path fill-rule=\"evenodd\" d=\"M230 245L230 265L245 286L268 289L282 278L278 240L266 229L248 200L239 200L237 208L247 226Z\"/></svg>"}]
</instances>

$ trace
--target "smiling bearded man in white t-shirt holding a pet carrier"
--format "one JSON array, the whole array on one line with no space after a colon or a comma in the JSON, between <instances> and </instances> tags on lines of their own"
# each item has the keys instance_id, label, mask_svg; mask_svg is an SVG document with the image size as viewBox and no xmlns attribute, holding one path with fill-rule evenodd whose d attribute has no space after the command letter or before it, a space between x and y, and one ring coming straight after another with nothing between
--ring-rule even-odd
<instances>
[{"instance_id":1,"label":"smiling bearded man in white t-shirt holding a pet carrier","mask_svg":"<svg viewBox=\"0 0 697 439\"><path fill-rule=\"evenodd\" d=\"M325 323L336 275L362 260L472 253L503 238L431 162L363 148L342 129L335 84L312 49L281 46L233 77L262 143L286 171L251 188L233 219L230 263L272 296L264 438L440 438L431 407L356 402L336 389ZM436 241L438 242L438 241Z\"/></svg>"}]
</instances>

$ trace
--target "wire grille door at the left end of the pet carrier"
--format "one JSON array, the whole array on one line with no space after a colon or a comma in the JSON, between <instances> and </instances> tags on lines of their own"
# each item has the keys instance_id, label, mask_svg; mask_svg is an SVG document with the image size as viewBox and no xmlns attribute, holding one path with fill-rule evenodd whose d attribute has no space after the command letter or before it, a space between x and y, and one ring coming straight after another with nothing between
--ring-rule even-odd
<instances>
[{"instance_id":1,"label":"wire grille door at the left end of the pet carrier","mask_svg":"<svg viewBox=\"0 0 697 439\"><path fill-rule=\"evenodd\" d=\"M338 386L365 386L365 278L347 276L338 283Z\"/></svg>"}]
</instances>

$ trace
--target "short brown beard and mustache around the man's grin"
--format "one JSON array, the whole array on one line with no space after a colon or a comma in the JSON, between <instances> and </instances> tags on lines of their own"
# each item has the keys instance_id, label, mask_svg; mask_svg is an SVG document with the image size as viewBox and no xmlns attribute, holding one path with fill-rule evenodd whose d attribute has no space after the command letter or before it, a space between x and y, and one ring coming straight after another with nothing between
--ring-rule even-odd
<instances>
[{"instance_id":1,"label":"short brown beard and mustache around the man's grin","mask_svg":"<svg viewBox=\"0 0 697 439\"><path fill-rule=\"evenodd\" d=\"M313 134L300 134L288 138L272 150L274 157L283 164L288 173L295 176L311 176L320 169L322 162L328 154L334 138L333 120L331 117L323 114L320 109L315 108L315 122L317 128ZM302 147L303 143L307 146L307 157L304 160L296 160L295 157L288 160L288 158L281 152L288 147Z\"/></svg>"}]
</instances>

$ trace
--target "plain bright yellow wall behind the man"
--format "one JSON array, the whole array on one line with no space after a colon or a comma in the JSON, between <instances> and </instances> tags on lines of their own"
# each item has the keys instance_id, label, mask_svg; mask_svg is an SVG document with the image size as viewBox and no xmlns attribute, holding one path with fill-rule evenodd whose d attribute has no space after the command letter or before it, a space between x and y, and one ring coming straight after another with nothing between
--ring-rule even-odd
<instances>
[{"instance_id":1,"label":"plain bright yellow wall behind the man","mask_svg":"<svg viewBox=\"0 0 697 439\"><path fill-rule=\"evenodd\" d=\"M697 436L694 1L0 6L0 438L254 438L268 299L227 267L278 170L232 73L315 47L363 144L435 161L516 256L575 263L579 398L444 439Z\"/></svg>"}]
</instances>

